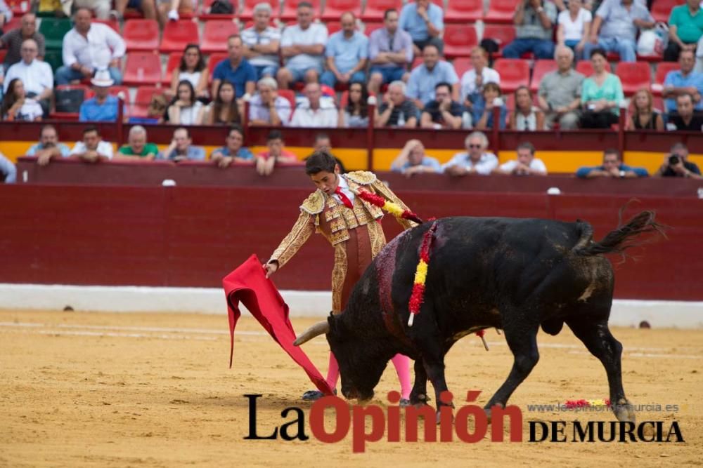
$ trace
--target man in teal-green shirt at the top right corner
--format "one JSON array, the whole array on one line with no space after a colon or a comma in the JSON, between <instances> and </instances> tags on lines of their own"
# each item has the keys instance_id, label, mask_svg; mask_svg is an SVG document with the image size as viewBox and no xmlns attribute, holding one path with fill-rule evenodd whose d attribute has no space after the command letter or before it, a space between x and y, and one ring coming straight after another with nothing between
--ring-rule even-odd
<instances>
[{"instance_id":1,"label":"man in teal-green shirt at the top right corner","mask_svg":"<svg viewBox=\"0 0 703 468\"><path fill-rule=\"evenodd\" d=\"M666 62L676 62L682 50L694 51L703 35L703 11L700 0L686 0L683 5L671 8L669 15L669 45L664 51Z\"/></svg>"}]
</instances>

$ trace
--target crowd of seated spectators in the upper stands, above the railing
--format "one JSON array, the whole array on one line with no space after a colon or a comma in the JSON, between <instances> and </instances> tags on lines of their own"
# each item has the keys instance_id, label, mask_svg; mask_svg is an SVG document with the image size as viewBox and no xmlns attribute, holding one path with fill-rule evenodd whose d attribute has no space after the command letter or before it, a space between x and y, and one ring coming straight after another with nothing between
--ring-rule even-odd
<instances>
[{"instance_id":1,"label":"crowd of seated spectators in the upper stands, above the railing","mask_svg":"<svg viewBox=\"0 0 703 468\"><path fill-rule=\"evenodd\" d=\"M115 95L119 91L112 86L122 83L125 42L111 27L92 18L110 14L122 18L127 5L117 2L111 13L107 0L74 4L73 27L63 37L63 66L56 73L42 60L45 40L37 31L33 13L24 15L20 27L0 37L0 45L8 48L1 67L4 77L0 77L5 95L2 119L46 119L56 98L54 86L69 83L94 86L94 97L86 96L82 102L81 121L118 118ZM153 15L164 20L178 19L179 14L193 10L193 4L185 0L160 2L159 8L146 0L130 6L141 8L146 18ZM619 62L636 60L638 33L654 26L645 2L604 0L595 7L581 0L517 2L515 39L505 44L503 57L531 53L536 59L554 59L557 69L542 76L536 95L520 86L508 99L484 47L471 48L472 66L462 76L444 60L444 11L430 0L410 2L401 11L385 11L382 27L369 36L359 30L359 19L352 12L342 13L341 29L328 34L307 1L297 4L295 23L279 29L272 19L271 4L262 1L254 6L253 24L228 38L227 57L211 68L212 75L198 44L186 46L170 87L163 91L165 109L144 122L242 125L248 102L246 120L251 125L486 130L497 124L501 129L535 131L558 124L569 130L610 128L631 102L628 129L701 130L697 113L703 111L703 73L695 70L695 64L697 43L703 36L703 12L698 2L687 1L671 11L664 59L678 60L680 68L666 75L662 91L666 109L656 109L645 88L626 99L609 63L609 53L617 53ZM484 37L482 44L488 47L491 41ZM412 67L415 58L421 61ZM577 59L591 61L591 76L574 69ZM295 94L292 98L279 95L280 90L295 86L302 88L297 98ZM339 86L346 90L343 98L335 92ZM404 97L399 95L401 89ZM690 96L692 113L685 110L688 98L678 102L682 95ZM380 104L373 121L369 121L370 98ZM510 109L508 101L514 102ZM124 107L124 114L128 121L129 107Z\"/></svg>"}]
</instances>

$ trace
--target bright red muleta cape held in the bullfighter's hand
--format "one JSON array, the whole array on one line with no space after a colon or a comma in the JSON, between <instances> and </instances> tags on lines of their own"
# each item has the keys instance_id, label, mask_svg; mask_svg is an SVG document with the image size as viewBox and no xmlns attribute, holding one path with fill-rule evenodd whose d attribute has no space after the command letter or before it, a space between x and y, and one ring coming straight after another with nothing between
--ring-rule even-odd
<instances>
[{"instance_id":1,"label":"bright red muleta cape held in the bullfighter's hand","mask_svg":"<svg viewBox=\"0 0 703 468\"><path fill-rule=\"evenodd\" d=\"M222 279L222 286L227 300L229 316L229 366L232 367L234 354L234 328L242 315L239 311L241 302L251 314L262 324L264 330L276 340L278 345L305 370L310 380L323 394L332 394L320 372L311 363L308 356L297 346L295 331L288 319L288 305L283 302L273 281L267 279L262 268L262 262L253 255L236 270Z\"/></svg>"}]
</instances>

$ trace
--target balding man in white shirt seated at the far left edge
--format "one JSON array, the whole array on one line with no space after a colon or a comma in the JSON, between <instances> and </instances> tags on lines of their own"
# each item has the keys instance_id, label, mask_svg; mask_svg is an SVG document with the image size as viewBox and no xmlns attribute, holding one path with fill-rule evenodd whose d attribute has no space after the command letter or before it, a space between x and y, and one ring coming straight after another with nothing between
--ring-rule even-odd
<instances>
[{"instance_id":1,"label":"balding man in white shirt seated at the far left edge","mask_svg":"<svg viewBox=\"0 0 703 468\"><path fill-rule=\"evenodd\" d=\"M39 102L44 116L49 116L49 100L53 94L53 73L51 65L43 60L37 60L39 46L34 39L26 39L22 42L20 55L22 60L12 65L5 75L5 94L10 81L20 79L25 85L27 98Z\"/></svg>"}]
</instances>

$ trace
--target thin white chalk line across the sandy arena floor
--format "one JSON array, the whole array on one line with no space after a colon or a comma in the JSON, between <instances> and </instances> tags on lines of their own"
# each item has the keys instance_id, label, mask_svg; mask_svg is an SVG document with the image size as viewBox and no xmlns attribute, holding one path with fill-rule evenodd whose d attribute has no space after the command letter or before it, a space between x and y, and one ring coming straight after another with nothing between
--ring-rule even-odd
<instances>
[{"instance_id":1,"label":"thin white chalk line across the sandy arena floor","mask_svg":"<svg viewBox=\"0 0 703 468\"><path fill-rule=\"evenodd\" d=\"M227 330L213 330L209 328L169 328L169 327L140 327L140 326L103 326L103 325L84 325L79 323L30 323L30 322L0 322L0 328L7 328L8 331L13 328L20 328L22 333L35 333L40 335L75 335L75 336L105 336L105 337L127 337L127 338L158 338L161 340L206 340L214 341L216 337L203 336L188 336L188 335L153 335L149 333L119 333L126 332L152 332L152 333L195 333L200 335L228 335ZM39 330L39 328L49 328L49 330ZM55 330L58 328L58 330ZM70 330L70 329L75 330ZM24 329L24 330L22 330ZM91 331L91 330L117 330L117 331ZM19 330L18 330L19 331ZM247 337L268 337L269 334L264 331L242 330L235 335L244 335ZM248 341L248 340L247 340ZM323 340L314 340L313 344L326 345ZM491 346L507 346L503 341L488 341ZM568 345L565 343L541 343L539 347L553 349L571 349L569 354L590 354L584 351L583 345ZM678 349L695 349L695 348L678 348ZM683 359L703 359L703 356L693 354L678 354L672 352L670 348L662 347L629 347L626 351L628 357L644 357L644 358L683 358Z\"/></svg>"}]
</instances>

